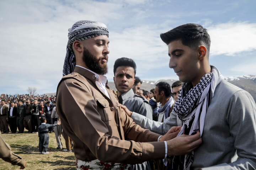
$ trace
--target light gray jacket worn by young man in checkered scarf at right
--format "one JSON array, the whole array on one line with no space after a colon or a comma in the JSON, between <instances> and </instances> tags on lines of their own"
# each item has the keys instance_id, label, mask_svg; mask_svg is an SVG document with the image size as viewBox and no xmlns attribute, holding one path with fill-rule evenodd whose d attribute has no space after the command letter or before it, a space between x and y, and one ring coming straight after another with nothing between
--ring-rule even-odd
<instances>
[{"instance_id":1,"label":"light gray jacket worn by young man in checkered scarf at right","mask_svg":"<svg viewBox=\"0 0 256 170\"><path fill-rule=\"evenodd\" d=\"M132 114L135 123L161 134L165 134L172 126L177 126L174 112L164 123L141 119L139 116ZM220 82L208 107L202 135L203 143L194 150L191 169L255 169L255 117L256 104L251 95L225 80ZM235 152L239 159L231 162Z\"/></svg>"}]
</instances>

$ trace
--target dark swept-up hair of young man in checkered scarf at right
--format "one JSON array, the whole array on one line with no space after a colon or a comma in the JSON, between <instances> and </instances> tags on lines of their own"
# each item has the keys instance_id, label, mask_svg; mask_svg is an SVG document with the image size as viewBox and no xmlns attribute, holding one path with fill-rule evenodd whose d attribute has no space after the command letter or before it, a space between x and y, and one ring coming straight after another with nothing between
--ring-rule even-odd
<instances>
[{"instance_id":1,"label":"dark swept-up hair of young man in checkered scarf at right","mask_svg":"<svg viewBox=\"0 0 256 170\"><path fill-rule=\"evenodd\" d=\"M194 47L203 43L203 45L206 46L207 55L209 57L211 42L210 35L208 34L207 29L199 24L184 24L166 33L160 34L160 37L167 45L175 40L181 40L183 45L189 47Z\"/></svg>"}]
</instances>

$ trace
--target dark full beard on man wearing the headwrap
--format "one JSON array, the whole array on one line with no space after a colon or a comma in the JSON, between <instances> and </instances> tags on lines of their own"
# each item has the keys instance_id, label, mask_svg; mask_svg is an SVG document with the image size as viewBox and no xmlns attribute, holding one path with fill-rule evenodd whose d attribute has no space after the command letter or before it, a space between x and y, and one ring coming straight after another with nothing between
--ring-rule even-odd
<instances>
[{"instance_id":1,"label":"dark full beard on man wearing the headwrap","mask_svg":"<svg viewBox=\"0 0 256 170\"><path fill-rule=\"evenodd\" d=\"M108 70L107 63L103 63L103 64L101 63L102 58L105 58L105 57L97 58L96 56L92 55L92 53L90 53L89 50L84 48L82 60L85 62L86 66L90 70L100 75L106 74ZM108 57L106 55L106 60L107 59Z\"/></svg>"}]
</instances>

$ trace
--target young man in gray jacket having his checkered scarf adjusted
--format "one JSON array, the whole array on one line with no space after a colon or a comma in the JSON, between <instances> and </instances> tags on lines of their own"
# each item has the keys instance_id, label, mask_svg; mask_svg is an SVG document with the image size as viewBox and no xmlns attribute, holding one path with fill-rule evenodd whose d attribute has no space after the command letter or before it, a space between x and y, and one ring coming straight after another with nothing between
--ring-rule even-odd
<instances>
[{"instance_id":1,"label":"young man in gray jacket having his checkered scarf adjusted","mask_svg":"<svg viewBox=\"0 0 256 170\"><path fill-rule=\"evenodd\" d=\"M256 104L248 92L225 81L217 68L210 66L207 30L185 24L160 36L168 45L169 67L185 83L164 123L126 110L128 115L143 128L165 134L177 126L177 114L183 122L178 135L200 131L202 144L190 154L174 157L179 169L255 169ZM236 152L239 159L232 162Z\"/></svg>"}]
</instances>

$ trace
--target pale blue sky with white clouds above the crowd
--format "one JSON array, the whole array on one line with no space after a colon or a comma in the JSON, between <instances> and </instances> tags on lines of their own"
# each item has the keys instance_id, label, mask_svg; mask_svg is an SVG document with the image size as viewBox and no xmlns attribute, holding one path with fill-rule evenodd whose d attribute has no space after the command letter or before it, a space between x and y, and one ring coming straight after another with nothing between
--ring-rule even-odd
<instances>
[{"instance_id":1,"label":"pale blue sky with white clouds above the crowd","mask_svg":"<svg viewBox=\"0 0 256 170\"><path fill-rule=\"evenodd\" d=\"M256 75L255 0L0 0L0 94L55 92L62 77L68 28L105 23L110 31L108 81L117 58L133 58L143 80L178 79L160 33L186 23L208 29L210 64L224 77Z\"/></svg>"}]
</instances>

